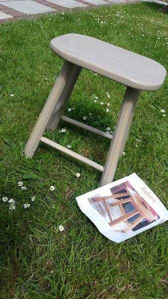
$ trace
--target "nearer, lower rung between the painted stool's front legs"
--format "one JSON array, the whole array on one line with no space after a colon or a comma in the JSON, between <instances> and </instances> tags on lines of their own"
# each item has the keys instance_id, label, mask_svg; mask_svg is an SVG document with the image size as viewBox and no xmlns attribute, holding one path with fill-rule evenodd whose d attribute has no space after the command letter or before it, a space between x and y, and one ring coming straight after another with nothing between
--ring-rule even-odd
<instances>
[{"instance_id":1,"label":"nearer, lower rung between the painted stool's front legs","mask_svg":"<svg viewBox=\"0 0 168 299\"><path fill-rule=\"evenodd\" d=\"M69 150L68 148L66 148L66 147L64 147L64 146L62 146L62 145L60 145L60 144L58 144L58 143L56 143L56 142L54 142L54 141L46 138L46 137L41 137L40 141L42 141L43 143L48 144L48 145L56 148L57 150L65 153L65 154L67 154L67 155L69 155L69 156L71 156L71 157L73 157L73 158L75 158L75 159L77 159L77 160L85 163L85 164L88 164L89 166L94 167L94 168L96 168L96 169L98 169L100 171L103 171L103 169L104 169L104 167L102 165L100 165L100 164L98 164L98 163L96 163L94 161L91 161L91 160L89 160L89 159L87 159L87 158L85 158L85 157L83 157L83 156L81 156L81 155L79 155L79 154L77 154L77 153Z\"/></svg>"}]
</instances>

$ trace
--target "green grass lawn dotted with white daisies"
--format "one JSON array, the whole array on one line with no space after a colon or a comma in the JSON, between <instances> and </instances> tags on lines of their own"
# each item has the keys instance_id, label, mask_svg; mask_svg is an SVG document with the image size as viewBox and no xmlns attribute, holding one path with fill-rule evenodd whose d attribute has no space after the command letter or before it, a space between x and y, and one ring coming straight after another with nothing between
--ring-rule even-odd
<instances>
[{"instance_id":1,"label":"green grass lawn dotted with white daisies","mask_svg":"<svg viewBox=\"0 0 168 299\"><path fill-rule=\"evenodd\" d=\"M98 187L98 171L45 145L31 160L22 155L62 66L62 59L48 48L51 38L87 34L168 69L168 16L158 8L147 3L113 5L0 25L0 196L16 201L13 212L0 201L0 298L168 298L167 223L121 244L110 242L75 200ZM67 107L74 110L66 110L66 115L79 121L87 116L88 124L113 130L124 91L124 86L82 70ZM141 93L115 179L136 172L168 207L168 116L163 117L163 108L168 114L168 77L159 91ZM66 132L59 133L65 126ZM63 122L46 135L105 163L109 140ZM18 181L26 191L20 191ZM25 202L31 203L29 209L23 208ZM59 232L60 224L64 232Z\"/></svg>"}]
</instances>

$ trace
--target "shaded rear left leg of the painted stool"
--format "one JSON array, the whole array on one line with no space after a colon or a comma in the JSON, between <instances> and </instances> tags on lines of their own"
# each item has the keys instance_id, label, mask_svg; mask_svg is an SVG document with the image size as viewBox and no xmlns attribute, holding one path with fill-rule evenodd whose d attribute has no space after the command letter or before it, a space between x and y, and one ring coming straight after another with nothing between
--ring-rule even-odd
<instances>
[{"instance_id":1,"label":"shaded rear left leg of the painted stool","mask_svg":"<svg viewBox=\"0 0 168 299\"><path fill-rule=\"evenodd\" d=\"M66 84L62 90L62 93L59 97L57 105L56 105L54 111L52 112L52 115L50 117L50 120L47 124L46 129L54 130L57 128L59 121L60 121L60 117L64 113L66 104L67 104L69 97L72 93L72 90L75 86L75 83L79 76L80 71L81 71L81 67L76 64L73 64L71 75L68 77L68 79L66 81Z\"/></svg>"}]
</instances>

